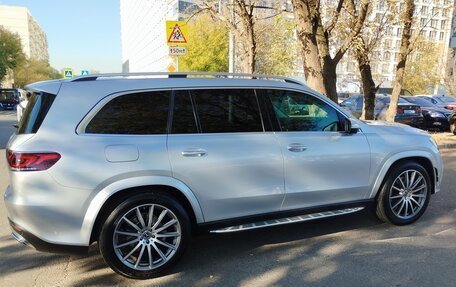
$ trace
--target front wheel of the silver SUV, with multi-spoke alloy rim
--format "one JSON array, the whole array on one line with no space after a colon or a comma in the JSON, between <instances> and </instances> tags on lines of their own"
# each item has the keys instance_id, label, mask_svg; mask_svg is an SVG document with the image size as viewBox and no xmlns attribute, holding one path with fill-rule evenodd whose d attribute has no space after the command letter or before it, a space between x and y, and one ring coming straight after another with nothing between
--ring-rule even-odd
<instances>
[{"instance_id":1,"label":"front wheel of the silver SUV, with multi-spoke alloy rim","mask_svg":"<svg viewBox=\"0 0 456 287\"><path fill-rule=\"evenodd\" d=\"M411 161L400 163L387 174L382 185L377 217L395 225L413 223L425 212L431 188L429 174L422 165Z\"/></svg>"}]
</instances>

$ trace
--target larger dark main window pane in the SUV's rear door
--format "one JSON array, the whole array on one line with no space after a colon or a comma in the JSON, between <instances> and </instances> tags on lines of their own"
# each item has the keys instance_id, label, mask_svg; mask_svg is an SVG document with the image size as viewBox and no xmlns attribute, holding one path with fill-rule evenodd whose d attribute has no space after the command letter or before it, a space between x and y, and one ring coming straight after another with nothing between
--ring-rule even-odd
<instances>
[{"instance_id":1,"label":"larger dark main window pane in the SUV's rear door","mask_svg":"<svg viewBox=\"0 0 456 287\"><path fill-rule=\"evenodd\" d=\"M203 133L262 132L253 90L190 91Z\"/></svg>"}]
</instances>

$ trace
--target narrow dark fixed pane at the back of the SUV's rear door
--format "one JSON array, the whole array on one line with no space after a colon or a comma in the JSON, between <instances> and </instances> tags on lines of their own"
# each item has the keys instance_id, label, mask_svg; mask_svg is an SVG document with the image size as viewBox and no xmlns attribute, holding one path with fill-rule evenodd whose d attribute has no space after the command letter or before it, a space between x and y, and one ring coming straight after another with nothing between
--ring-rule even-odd
<instances>
[{"instance_id":1,"label":"narrow dark fixed pane at the back of the SUV's rear door","mask_svg":"<svg viewBox=\"0 0 456 287\"><path fill-rule=\"evenodd\" d=\"M176 91L174 95L172 133L191 134L197 132L196 118L193 112L190 94L188 91Z\"/></svg>"}]
</instances>

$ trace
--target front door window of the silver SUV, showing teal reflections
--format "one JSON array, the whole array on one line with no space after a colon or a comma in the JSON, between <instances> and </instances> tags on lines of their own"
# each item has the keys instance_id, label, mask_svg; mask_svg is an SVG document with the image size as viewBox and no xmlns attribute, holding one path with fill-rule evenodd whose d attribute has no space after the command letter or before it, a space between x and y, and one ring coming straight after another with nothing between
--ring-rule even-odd
<instances>
[{"instance_id":1,"label":"front door window of the silver SUV, showing teal reflections","mask_svg":"<svg viewBox=\"0 0 456 287\"><path fill-rule=\"evenodd\" d=\"M281 90L258 90L266 94L282 131L338 131L337 111L313 96Z\"/></svg>"}]
</instances>

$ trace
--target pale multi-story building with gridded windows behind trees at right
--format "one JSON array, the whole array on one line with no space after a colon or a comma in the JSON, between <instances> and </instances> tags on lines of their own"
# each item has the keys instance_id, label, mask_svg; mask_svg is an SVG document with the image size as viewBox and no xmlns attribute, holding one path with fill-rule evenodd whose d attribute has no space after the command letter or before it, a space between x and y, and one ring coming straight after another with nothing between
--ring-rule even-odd
<instances>
[{"instance_id":1,"label":"pale multi-story building with gridded windows behind trees at right","mask_svg":"<svg viewBox=\"0 0 456 287\"><path fill-rule=\"evenodd\" d=\"M404 3L400 7L403 9ZM415 1L415 23L412 27L414 39L432 42L436 45L436 53L439 53L441 70L441 84L446 74L446 59L449 57L449 44L452 36L452 18L454 0L418 0ZM377 1L367 21L380 23L387 13L386 1ZM371 68L374 81L382 86L392 86L395 77L395 68L401 45L402 26L391 25L383 28L381 40L371 55ZM360 79L358 63L348 53L337 67L337 81L339 90L347 92L359 92ZM430 87L430 92L436 93L438 87Z\"/></svg>"}]
</instances>

